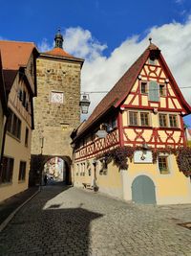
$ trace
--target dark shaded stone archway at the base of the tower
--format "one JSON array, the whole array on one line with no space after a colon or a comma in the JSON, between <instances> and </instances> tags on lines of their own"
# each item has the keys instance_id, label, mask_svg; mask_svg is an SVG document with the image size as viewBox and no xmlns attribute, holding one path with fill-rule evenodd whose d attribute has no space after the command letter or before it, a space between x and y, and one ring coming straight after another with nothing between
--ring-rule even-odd
<instances>
[{"instance_id":1,"label":"dark shaded stone archway at the base of the tower","mask_svg":"<svg viewBox=\"0 0 191 256\"><path fill-rule=\"evenodd\" d=\"M72 160L70 156L67 155L42 155L42 154L32 154L31 156L31 170L30 170L30 181L29 185L40 185L43 183L42 177L44 173L44 166L52 158L58 157L62 159L65 163L65 179L63 177L63 184L71 185L72 184Z\"/></svg>"}]
</instances>

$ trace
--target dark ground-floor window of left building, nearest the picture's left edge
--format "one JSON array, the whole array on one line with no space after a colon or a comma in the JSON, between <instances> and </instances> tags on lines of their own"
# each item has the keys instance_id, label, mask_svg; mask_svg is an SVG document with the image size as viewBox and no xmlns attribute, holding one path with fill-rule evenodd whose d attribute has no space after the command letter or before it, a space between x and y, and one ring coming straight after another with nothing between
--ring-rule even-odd
<instances>
[{"instance_id":1,"label":"dark ground-floor window of left building, nearest the picture's left edge","mask_svg":"<svg viewBox=\"0 0 191 256\"><path fill-rule=\"evenodd\" d=\"M14 159L3 156L2 168L0 173L0 183L11 182L13 172Z\"/></svg>"}]
</instances>

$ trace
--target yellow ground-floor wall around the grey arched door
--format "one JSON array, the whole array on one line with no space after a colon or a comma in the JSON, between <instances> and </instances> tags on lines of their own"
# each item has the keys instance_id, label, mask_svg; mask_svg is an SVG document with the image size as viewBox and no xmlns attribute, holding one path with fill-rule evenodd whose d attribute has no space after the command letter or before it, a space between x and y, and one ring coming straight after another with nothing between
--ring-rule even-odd
<instances>
[{"instance_id":1,"label":"yellow ground-floor wall around the grey arched door","mask_svg":"<svg viewBox=\"0 0 191 256\"><path fill-rule=\"evenodd\" d=\"M161 175L158 164L129 163L127 171L128 178L131 180L129 186L132 185L138 175L148 175L155 183L158 204L191 202L191 183L189 178L180 173L175 155L172 154L169 158L169 175Z\"/></svg>"}]
</instances>

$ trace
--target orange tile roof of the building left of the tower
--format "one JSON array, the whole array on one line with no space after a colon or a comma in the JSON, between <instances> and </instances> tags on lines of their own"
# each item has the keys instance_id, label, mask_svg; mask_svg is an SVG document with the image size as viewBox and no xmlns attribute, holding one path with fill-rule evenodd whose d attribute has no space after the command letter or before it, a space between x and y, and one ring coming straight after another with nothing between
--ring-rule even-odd
<instances>
[{"instance_id":1,"label":"orange tile roof of the building left of the tower","mask_svg":"<svg viewBox=\"0 0 191 256\"><path fill-rule=\"evenodd\" d=\"M3 69L18 70L27 66L34 49L37 52L32 42L0 40Z\"/></svg>"}]
</instances>

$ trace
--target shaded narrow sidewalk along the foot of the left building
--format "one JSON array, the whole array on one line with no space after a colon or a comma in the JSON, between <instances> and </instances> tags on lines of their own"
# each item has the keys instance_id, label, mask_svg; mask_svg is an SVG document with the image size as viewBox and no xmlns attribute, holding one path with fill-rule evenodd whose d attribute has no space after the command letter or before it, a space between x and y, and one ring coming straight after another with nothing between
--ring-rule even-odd
<instances>
[{"instance_id":1,"label":"shaded narrow sidewalk along the foot of the left building","mask_svg":"<svg viewBox=\"0 0 191 256\"><path fill-rule=\"evenodd\" d=\"M32 187L0 202L0 225L6 221L11 214L27 199L32 198L32 196L37 193L38 190L39 188L37 186Z\"/></svg>"}]
</instances>

